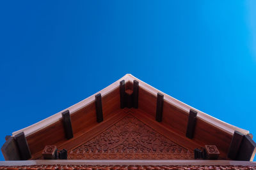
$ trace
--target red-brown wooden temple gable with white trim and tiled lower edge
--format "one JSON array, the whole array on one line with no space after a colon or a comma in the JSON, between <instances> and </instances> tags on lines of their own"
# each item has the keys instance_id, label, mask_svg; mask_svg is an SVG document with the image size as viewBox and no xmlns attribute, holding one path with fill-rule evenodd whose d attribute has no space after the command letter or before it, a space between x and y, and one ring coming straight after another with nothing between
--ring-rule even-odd
<instances>
[{"instance_id":1,"label":"red-brown wooden temple gable with white trim and tiled lower edge","mask_svg":"<svg viewBox=\"0 0 256 170\"><path fill-rule=\"evenodd\" d=\"M256 169L252 137L126 74L6 136L0 169Z\"/></svg>"}]
</instances>

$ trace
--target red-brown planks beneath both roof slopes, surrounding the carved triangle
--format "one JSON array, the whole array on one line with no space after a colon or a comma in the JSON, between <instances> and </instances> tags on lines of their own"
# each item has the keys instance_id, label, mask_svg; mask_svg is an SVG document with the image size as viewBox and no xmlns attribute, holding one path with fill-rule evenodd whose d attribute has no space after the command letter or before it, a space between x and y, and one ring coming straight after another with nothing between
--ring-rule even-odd
<instances>
[{"instance_id":1,"label":"red-brown planks beneath both roof slopes, surrounding the carved triangle","mask_svg":"<svg viewBox=\"0 0 256 170\"><path fill-rule=\"evenodd\" d=\"M133 83L127 81L125 90L132 90ZM152 129L166 136L179 145L193 150L204 145L216 145L220 151L220 157L226 158L228 147L232 136L225 131L221 131L211 124L207 124L201 118L197 118L195 134L193 139L186 138L186 128L188 124L188 113L164 101L163 121L156 122L156 94L151 94L140 87L138 105L139 109L120 109L120 90L116 88L108 95L102 97L102 110L104 121L97 123L95 113L95 103L88 104L81 110L70 115L74 138L65 139L62 121L49 125L44 129L26 137L31 150L32 159L41 157L45 145L56 145L58 148L68 150L76 148L81 143L100 134L125 114L132 113L134 117L147 124Z\"/></svg>"}]
</instances>

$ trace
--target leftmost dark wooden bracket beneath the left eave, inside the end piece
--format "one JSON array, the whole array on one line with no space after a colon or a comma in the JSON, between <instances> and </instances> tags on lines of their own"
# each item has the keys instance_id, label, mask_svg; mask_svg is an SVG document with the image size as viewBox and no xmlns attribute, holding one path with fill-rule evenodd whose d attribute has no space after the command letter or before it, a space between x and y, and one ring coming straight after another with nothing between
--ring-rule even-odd
<instances>
[{"instance_id":1,"label":"leftmost dark wooden bracket beneath the left eave, inside the end piece","mask_svg":"<svg viewBox=\"0 0 256 170\"><path fill-rule=\"evenodd\" d=\"M24 132L20 132L19 134L15 135L15 141L19 148L20 160L31 159L31 153Z\"/></svg>"}]
</instances>

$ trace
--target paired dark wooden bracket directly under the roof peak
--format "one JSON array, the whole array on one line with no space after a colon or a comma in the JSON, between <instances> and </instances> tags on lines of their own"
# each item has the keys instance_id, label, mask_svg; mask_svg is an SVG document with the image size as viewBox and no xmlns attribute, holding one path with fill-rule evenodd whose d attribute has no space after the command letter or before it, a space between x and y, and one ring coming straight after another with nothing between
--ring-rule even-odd
<instances>
[{"instance_id":1,"label":"paired dark wooden bracket directly under the roof peak","mask_svg":"<svg viewBox=\"0 0 256 170\"><path fill-rule=\"evenodd\" d=\"M138 108L139 81L133 81L133 90L125 90L125 80L120 81L120 108Z\"/></svg>"}]
</instances>

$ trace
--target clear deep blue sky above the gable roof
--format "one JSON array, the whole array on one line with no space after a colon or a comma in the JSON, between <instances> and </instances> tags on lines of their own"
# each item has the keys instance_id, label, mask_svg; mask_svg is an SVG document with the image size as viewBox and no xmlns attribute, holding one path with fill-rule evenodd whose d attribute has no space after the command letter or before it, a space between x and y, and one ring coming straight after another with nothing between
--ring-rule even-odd
<instances>
[{"instance_id":1,"label":"clear deep blue sky above the gable roof","mask_svg":"<svg viewBox=\"0 0 256 170\"><path fill-rule=\"evenodd\" d=\"M0 145L126 73L256 136L255 9L240 0L0 1Z\"/></svg>"}]
</instances>

